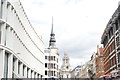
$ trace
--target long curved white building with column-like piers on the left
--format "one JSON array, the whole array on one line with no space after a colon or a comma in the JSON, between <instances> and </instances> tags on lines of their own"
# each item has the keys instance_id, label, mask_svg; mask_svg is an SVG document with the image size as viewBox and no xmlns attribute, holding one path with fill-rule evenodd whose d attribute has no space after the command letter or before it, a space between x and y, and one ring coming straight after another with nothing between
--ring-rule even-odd
<instances>
[{"instance_id":1,"label":"long curved white building with column-like piers on the left","mask_svg":"<svg viewBox=\"0 0 120 80\"><path fill-rule=\"evenodd\" d=\"M0 0L0 78L41 78L44 56L21 2Z\"/></svg>"}]
</instances>

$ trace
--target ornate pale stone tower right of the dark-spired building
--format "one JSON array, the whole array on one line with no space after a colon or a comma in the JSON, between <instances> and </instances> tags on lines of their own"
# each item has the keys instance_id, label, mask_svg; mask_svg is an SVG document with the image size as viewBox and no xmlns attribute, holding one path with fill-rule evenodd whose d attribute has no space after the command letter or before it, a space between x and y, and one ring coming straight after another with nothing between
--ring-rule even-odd
<instances>
[{"instance_id":1,"label":"ornate pale stone tower right of the dark-spired building","mask_svg":"<svg viewBox=\"0 0 120 80\"><path fill-rule=\"evenodd\" d=\"M71 66L69 63L69 57L66 53L64 53L63 63L60 69L60 77L61 78L71 78Z\"/></svg>"}]
</instances>

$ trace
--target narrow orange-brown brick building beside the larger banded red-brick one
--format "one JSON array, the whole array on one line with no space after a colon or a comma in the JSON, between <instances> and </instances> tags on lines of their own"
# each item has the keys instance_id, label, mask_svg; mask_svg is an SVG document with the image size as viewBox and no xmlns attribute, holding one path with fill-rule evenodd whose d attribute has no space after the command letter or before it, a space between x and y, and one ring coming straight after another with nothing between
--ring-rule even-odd
<instances>
[{"instance_id":1,"label":"narrow orange-brown brick building beside the larger banded red-brick one","mask_svg":"<svg viewBox=\"0 0 120 80\"><path fill-rule=\"evenodd\" d=\"M97 78L104 75L103 49L104 48L99 48L97 46L97 53L96 53L96 77Z\"/></svg>"}]
</instances>

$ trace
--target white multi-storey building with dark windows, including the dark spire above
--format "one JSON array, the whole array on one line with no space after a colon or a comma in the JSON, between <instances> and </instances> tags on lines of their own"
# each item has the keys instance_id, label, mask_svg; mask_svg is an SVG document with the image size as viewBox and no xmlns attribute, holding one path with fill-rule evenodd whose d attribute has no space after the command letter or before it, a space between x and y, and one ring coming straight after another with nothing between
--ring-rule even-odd
<instances>
[{"instance_id":1,"label":"white multi-storey building with dark windows, including the dark spire above","mask_svg":"<svg viewBox=\"0 0 120 80\"><path fill-rule=\"evenodd\" d=\"M53 33L53 20L52 29L50 34L49 48L45 50L45 78L58 78L58 48L55 45L55 34Z\"/></svg>"}]
</instances>

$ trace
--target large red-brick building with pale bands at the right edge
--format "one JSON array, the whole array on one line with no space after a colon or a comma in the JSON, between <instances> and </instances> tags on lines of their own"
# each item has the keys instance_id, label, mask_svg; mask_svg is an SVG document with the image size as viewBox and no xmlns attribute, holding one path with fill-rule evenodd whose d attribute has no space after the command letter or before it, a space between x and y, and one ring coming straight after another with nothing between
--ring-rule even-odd
<instances>
[{"instance_id":1,"label":"large red-brick building with pale bands at the right edge","mask_svg":"<svg viewBox=\"0 0 120 80\"><path fill-rule=\"evenodd\" d=\"M104 71L120 68L120 5L109 20L101 38L104 50Z\"/></svg>"}]
</instances>

